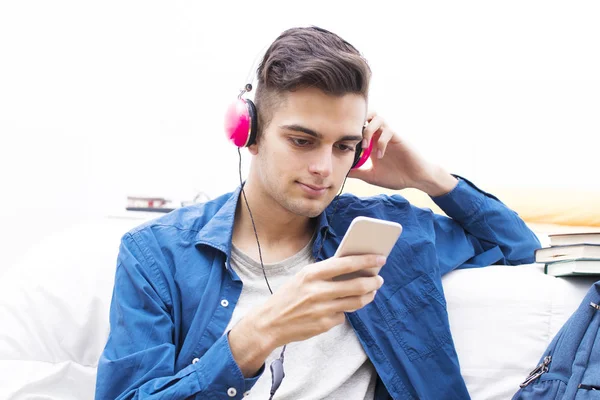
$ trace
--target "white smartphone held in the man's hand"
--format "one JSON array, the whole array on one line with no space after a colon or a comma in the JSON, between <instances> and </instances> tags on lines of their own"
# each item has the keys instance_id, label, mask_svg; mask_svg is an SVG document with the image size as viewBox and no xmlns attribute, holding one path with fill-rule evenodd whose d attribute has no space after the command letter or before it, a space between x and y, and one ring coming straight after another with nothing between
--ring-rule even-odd
<instances>
[{"instance_id":1,"label":"white smartphone held in the man's hand","mask_svg":"<svg viewBox=\"0 0 600 400\"><path fill-rule=\"evenodd\" d=\"M387 257L402 233L402 225L397 222L370 217L356 217L350 224L334 257L362 254L378 254ZM361 276L374 276L379 268L369 268L351 274L344 274L334 280L352 279Z\"/></svg>"}]
</instances>

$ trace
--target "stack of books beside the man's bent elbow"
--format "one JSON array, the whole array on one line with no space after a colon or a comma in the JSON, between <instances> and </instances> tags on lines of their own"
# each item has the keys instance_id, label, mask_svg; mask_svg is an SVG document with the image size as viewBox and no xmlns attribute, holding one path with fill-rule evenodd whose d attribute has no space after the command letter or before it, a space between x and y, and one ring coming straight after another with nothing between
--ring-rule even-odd
<instances>
[{"instance_id":1,"label":"stack of books beside the man's bent elbow","mask_svg":"<svg viewBox=\"0 0 600 400\"><path fill-rule=\"evenodd\" d=\"M600 275L600 232L550 235L550 247L538 249L535 261L548 275Z\"/></svg>"}]
</instances>

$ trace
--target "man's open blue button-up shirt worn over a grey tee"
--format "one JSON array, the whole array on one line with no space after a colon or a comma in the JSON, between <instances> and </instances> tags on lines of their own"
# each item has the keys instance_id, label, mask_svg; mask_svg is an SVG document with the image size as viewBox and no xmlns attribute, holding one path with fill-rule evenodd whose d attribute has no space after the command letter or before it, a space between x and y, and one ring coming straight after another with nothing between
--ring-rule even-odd
<instances>
[{"instance_id":1,"label":"man's open blue button-up shirt worn over a grey tee","mask_svg":"<svg viewBox=\"0 0 600 400\"><path fill-rule=\"evenodd\" d=\"M229 264L239 193L124 235L96 399L239 399L264 373L263 366L245 379L225 334L242 291ZM315 257L327 232L320 259L335 253L356 216L404 227L375 300L347 314L377 371L378 400L468 399L441 277L456 268L531 263L540 247L515 212L465 179L433 200L449 217L399 195L350 194L340 196L333 218L335 202L318 217Z\"/></svg>"}]
</instances>

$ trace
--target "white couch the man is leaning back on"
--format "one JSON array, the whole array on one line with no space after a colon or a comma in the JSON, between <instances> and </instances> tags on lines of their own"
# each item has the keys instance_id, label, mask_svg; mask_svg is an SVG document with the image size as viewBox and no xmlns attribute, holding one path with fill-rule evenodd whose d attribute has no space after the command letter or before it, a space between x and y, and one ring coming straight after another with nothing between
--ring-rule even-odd
<instances>
[{"instance_id":1,"label":"white couch the man is leaning back on","mask_svg":"<svg viewBox=\"0 0 600 400\"><path fill-rule=\"evenodd\" d=\"M133 215L57 232L5 267L0 399L94 397L119 240L145 218ZM546 276L535 264L445 276L450 325L472 398L509 399L593 281Z\"/></svg>"}]
</instances>

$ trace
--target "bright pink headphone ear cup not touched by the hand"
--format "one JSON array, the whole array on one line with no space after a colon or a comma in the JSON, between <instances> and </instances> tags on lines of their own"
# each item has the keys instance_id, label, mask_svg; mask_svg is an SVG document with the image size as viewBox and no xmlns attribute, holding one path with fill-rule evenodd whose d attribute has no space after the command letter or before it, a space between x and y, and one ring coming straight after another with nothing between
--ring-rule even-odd
<instances>
[{"instance_id":1,"label":"bright pink headphone ear cup not touched by the hand","mask_svg":"<svg viewBox=\"0 0 600 400\"><path fill-rule=\"evenodd\" d=\"M251 100L236 99L225 113L225 134L237 147L247 147L256 139L256 107Z\"/></svg>"}]
</instances>

